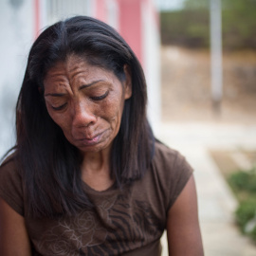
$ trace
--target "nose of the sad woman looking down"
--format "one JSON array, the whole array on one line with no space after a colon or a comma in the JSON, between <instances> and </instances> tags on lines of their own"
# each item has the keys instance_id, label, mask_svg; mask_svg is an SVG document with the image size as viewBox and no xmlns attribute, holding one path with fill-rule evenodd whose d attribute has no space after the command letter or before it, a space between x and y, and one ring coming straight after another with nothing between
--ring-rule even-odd
<instances>
[{"instance_id":1,"label":"nose of the sad woman looking down","mask_svg":"<svg viewBox=\"0 0 256 256\"><path fill-rule=\"evenodd\" d=\"M74 128L87 127L96 122L97 118L94 115L93 104L85 102L77 102L74 105L72 124Z\"/></svg>"}]
</instances>

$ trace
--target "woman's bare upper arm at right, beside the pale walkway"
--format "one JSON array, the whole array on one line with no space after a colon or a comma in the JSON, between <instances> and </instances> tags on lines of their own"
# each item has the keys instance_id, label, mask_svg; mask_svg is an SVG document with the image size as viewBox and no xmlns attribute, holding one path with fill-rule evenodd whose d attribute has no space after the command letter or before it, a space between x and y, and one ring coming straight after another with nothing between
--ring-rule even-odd
<instances>
[{"instance_id":1,"label":"woman's bare upper arm at right, beside the pale walkway","mask_svg":"<svg viewBox=\"0 0 256 256\"><path fill-rule=\"evenodd\" d=\"M172 256L204 255L193 176L168 212L167 237Z\"/></svg>"}]
</instances>

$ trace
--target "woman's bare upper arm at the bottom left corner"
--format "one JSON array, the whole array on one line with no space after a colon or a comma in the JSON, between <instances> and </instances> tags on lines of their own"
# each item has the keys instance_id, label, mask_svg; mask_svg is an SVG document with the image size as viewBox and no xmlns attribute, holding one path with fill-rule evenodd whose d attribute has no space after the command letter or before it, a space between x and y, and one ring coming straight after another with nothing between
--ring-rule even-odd
<instances>
[{"instance_id":1,"label":"woman's bare upper arm at the bottom left corner","mask_svg":"<svg viewBox=\"0 0 256 256\"><path fill-rule=\"evenodd\" d=\"M0 197L0 255L29 256L31 247L25 219Z\"/></svg>"}]
</instances>

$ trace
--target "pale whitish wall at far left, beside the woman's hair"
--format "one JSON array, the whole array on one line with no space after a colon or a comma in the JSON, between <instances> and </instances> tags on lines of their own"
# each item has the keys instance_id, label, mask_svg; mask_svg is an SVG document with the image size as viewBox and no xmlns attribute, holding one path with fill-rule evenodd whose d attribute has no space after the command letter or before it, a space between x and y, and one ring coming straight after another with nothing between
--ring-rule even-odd
<instances>
[{"instance_id":1,"label":"pale whitish wall at far left, beside the woman's hair","mask_svg":"<svg viewBox=\"0 0 256 256\"><path fill-rule=\"evenodd\" d=\"M14 109L33 41L31 1L0 1L0 157L15 142Z\"/></svg>"}]
</instances>

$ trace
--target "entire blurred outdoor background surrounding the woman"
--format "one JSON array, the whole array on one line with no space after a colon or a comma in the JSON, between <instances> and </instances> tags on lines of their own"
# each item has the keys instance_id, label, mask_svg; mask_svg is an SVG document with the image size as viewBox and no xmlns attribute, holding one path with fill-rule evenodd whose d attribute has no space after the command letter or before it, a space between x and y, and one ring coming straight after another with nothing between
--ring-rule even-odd
<instances>
[{"instance_id":1,"label":"entire blurred outdoor background surrounding the woman","mask_svg":"<svg viewBox=\"0 0 256 256\"><path fill-rule=\"evenodd\" d=\"M0 155L15 143L38 34L76 14L101 19L143 66L156 137L192 164L206 255L255 256L255 13L256 0L1 0Z\"/></svg>"}]
</instances>

